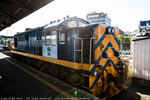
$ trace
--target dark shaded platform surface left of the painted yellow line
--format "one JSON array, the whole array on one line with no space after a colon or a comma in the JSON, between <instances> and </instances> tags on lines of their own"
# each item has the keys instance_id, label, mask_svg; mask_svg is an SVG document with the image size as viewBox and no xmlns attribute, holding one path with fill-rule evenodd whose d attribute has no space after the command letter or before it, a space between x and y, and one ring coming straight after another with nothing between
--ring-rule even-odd
<instances>
[{"instance_id":1,"label":"dark shaded platform surface left of the painted yellow line","mask_svg":"<svg viewBox=\"0 0 150 100\"><path fill-rule=\"evenodd\" d=\"M10 64L0 55L0 75L2 76L1 97L47 97L59 95L37 79Z\"/></svg>"}]
</instances>

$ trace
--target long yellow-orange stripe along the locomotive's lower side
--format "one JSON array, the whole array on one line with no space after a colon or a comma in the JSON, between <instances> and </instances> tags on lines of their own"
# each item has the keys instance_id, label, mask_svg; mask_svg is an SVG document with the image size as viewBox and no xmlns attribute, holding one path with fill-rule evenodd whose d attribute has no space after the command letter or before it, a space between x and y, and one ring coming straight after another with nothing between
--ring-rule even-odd
<instances>
[{"instance_id":1,"label":"long yellow-orange stripe along the locomotive's lower side","mask_svg":"<svg viewBox=\"0 0 150 100\"><path fill-rule=\"evenodd\" d=\"M69 68L73 68L73 69L77 69L77 70L89 71L90 70L90 66L91 66L90 64L74 63L74 62L70 62L70 61L53 59L53 58L48 58L48 57L33 55L33 54L29 54L29 53L13 51L13 50L11 51L11 53L23 55L23 56L26 56L26 57L31 57L31 58L34 58L34 59L50 62L50 63L53 63L53 64L58 64L58 65L61 65L61 66L65 66L65 67L69 67Z\"/></svg>"}]
</instances>

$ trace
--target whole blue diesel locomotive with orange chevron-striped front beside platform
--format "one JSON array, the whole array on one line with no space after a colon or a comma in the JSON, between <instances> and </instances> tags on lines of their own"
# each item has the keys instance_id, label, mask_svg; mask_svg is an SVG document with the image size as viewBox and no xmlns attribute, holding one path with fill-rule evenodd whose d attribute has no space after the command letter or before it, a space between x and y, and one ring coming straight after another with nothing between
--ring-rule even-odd
<instances>
[{"instance_id":1,"label":"whole blue diesel locomotive with orange chevron-striped front beside platform","mask_svg":"<svg viewBox=\"0 0 150 100\"><path fill-rule=\"evenodd\" d=\"M16 34L14 46L12 57L95 96L123 89L117 27L71 17Z\"/></svg>"}]
</instances>

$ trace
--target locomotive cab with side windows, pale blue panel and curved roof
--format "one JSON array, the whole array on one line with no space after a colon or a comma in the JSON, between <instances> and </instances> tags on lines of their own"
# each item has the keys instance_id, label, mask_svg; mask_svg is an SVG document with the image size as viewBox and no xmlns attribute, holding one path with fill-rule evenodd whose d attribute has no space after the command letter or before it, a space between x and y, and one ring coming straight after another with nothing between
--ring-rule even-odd
<instances>
[{"instance_id":1,"label":"locomotive cab with side windows, pale blue panel and curved roof","mask_svg":"<svg viewBox=\"0 0 150 100\"><path fill-rule=\"evenodd\" d=\"M74 39L79 38L77 27L86 24L85 20L74 17L47 25L43 30L43 56L74 61Z\"/></svg>"}]
</instances>

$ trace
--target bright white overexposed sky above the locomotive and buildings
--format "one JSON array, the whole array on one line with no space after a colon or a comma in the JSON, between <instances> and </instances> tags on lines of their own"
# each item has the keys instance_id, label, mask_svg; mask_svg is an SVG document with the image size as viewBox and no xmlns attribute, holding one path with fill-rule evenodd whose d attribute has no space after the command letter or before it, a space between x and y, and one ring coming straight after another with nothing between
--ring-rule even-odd
<instances>
[{"instance_id":1,"label":"bright white overexposed sky above the locomotive and buildings","mask_svg":"<svg viewBox=\"0 0 150 100\"><path fill-rule=\"evenodd\" d=\"M150 0L54 0L10 27L0 35L12 36L25 28L36 28L50 21L70 17L86 19L87 13L96 11L107 13L111 25L123 31L134 31L140 20L150 20Z\"/></svg>"}]
</instances>

